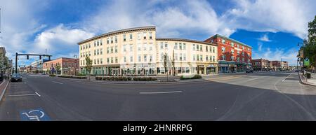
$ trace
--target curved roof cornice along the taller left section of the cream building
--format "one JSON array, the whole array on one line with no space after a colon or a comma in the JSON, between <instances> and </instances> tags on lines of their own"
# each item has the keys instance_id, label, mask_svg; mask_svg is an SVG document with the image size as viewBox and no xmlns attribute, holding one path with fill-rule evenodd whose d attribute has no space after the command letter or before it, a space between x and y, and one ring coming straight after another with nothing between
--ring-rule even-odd
<instances>
[{"instance_id":1,"label":"curved roof cornice along the taller left section of the cream building","mask_svg":"<svg viewBox=\"0 0 316 135\"><path fill-rule=\"evenodd\" d=\"M88 38L88 39L86 39L84 41L79 42L78 44L86 43L88 41L93 41L94 39L97 39L97 38L103 38L105 36L110 36L110 35L114 35L114 34L120 34L120 33L128 32L128 31L140 31L140 30L146 30L146 29L156 29L156 27L154 27L154 26L134 27L134 28L129 28L129 29L121 29L121 30L117 30L117 31L111 31L111 32L108 32L106 34L102 34L102 35L99 35L99 36L94 36L92 38Z\"/></svg>"}]
</instances>

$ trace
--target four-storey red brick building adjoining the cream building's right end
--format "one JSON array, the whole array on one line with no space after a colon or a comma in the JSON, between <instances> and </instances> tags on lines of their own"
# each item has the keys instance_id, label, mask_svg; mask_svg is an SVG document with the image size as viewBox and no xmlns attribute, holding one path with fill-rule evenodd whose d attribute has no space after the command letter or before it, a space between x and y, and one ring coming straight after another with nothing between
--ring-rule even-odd
<instances>
[{"instance_id":1,"label":"four-storey red brick building adjoining the cream building's right end","mask_svg":"<svg viewBox=\"0 0 316 135\"><path fill-rule=\"evenodd\" d=\"M218 45L218 73L235 73L251 69L251 46L219 34L204 42Z\"/></svg>"}]
</instances>

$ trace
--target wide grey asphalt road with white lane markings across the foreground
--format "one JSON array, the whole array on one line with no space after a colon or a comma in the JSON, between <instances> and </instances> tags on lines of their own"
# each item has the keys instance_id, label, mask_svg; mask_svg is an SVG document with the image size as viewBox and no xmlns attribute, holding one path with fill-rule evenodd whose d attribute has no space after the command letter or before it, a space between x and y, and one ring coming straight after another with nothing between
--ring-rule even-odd
<instances>
[{"instance_id":1,"label":"wide grey asphalt road with white lane markings across the foreground","mask_svg":"<svg viewBox=\"0 0 316 135\"><path fill-rule=\"evenodd\" d=\"M32 110L48 120L315 120L316 87L281 72L147 85L25 75L8 85L0 120L22 120Z\"/></svg>"}]
</instances>

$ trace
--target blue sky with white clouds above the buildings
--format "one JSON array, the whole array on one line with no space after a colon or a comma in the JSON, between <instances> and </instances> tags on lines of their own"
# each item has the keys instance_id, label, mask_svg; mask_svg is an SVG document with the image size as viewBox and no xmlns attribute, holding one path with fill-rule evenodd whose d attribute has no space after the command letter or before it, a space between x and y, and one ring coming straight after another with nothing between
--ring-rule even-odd
<instances>
[{"instance_id":1,"label":"blue sky with white clouds above the buildings","mask_svg":"<svg viewBox=\"0 0 316 135\"><path fill-rule=\"evenodd\" d=\"M253 59L296 65L315 0L0 0L0 46L18 53L79 54L77 43L131 27L156 26L157 37L204 41L215 34L251 45ZM19 57L19 65L39 59Z\"/></svg>"}]
</instances>

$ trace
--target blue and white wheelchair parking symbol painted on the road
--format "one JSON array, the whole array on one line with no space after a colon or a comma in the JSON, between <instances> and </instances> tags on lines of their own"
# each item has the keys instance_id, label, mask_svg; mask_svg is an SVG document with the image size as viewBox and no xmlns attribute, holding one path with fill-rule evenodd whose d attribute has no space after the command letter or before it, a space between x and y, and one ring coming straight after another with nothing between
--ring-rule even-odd
<instances>
[{"instance_id":1,"label":"blue and white wheelchair parking symbol painted on the road","mask_svg":"<svg viewBox=\"0 0 316 135\"><path fill-rule=\"evenodd\" d=\"M49 121L51 120L51 118L49 118L48 115L41 108L20 111L20 118L22 121Z\"/></svg>"}]
</instances>

